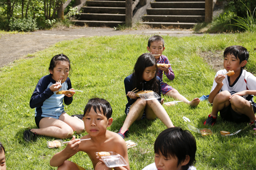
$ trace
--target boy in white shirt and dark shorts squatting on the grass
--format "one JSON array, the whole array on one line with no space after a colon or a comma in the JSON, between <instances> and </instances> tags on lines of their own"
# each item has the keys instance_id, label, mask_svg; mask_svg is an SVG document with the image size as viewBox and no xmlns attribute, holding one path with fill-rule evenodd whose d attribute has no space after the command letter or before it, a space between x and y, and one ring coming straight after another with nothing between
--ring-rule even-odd
<instances>
[{"instance_id":1,"label":"boy in white shirt and dark shorts squatting on the grass","mask_svg":"<svg viewBox=\"0 0 256 170\"><path fill-rule=\"evenodd\" d=\"M212 112L204 125L214 125L220 112L224 120L231 122L250 122L255 125L256 77L244 70L249 58L246 48L233 45L224 51L224 70L216 73L208 101L212 103ZM234 71L232 76L225 76L228 71Z\"/></svg>"}]
</instances>

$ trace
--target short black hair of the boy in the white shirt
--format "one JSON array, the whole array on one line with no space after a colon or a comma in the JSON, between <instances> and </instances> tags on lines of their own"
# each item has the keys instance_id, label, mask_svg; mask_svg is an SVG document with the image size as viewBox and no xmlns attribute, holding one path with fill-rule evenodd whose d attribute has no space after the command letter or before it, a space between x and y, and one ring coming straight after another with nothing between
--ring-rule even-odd
<instances>
[{"instance_id":1,"label":"short black hair of the boy in the white shirt","mask_svg":"<svg viewBox=\"0 0 256 170\"><path fill-rule=\"evenodd\" d=\"M238 57L240 60L240 63L244 60L247 61L249 58L249 52L247 51L247 49L240 45L233 45L233 46L227 47L224 51L224 57L226 57L228 54L230 55L232 54L233 56L236 57L236 59Z\"/></svg>"}]
</instances>

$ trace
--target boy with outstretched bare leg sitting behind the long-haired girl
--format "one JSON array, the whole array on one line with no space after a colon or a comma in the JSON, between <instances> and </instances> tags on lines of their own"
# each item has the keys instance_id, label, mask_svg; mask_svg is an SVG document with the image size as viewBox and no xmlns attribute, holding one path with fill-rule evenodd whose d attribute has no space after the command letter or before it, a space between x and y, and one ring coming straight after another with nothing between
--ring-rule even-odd
<instances>
[{"instance_id":1,"label":"boy with outstretched bare leg sitting behind the long-haired girl","mask_svg":"<svg viewBox=\"0 0 256 170\"><path fill-rule=\"evenodd\" d=\"M169 59L166 56L162 55L165 49L164 40L162 37L158 35L150 37L148 40L147 49L150 54L154 55L155 59L157 60L157 64L170 64ZM175 77L171 65L169 65L168 67L163 66L158 68L157 76L161 79L161 91L163 94L171 96L174 99L181 100L190 106L197 106L199 104L200 100L198 98L195 98L190 102L188 99L182 96L175 88L163 82L163 72L169 80L173 80Z\"/></svg>"}]
</instances>

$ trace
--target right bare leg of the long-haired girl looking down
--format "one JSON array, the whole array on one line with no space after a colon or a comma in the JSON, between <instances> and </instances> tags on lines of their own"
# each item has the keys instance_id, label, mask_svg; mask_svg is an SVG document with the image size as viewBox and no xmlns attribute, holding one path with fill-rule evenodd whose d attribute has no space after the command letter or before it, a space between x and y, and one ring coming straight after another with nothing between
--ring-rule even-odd
<instances>
[{"instance_id":1,"label":"right bare leg of the long-haired girl looking down","mask_svg":"<svg viewBox=\"0 0 256 170\"><path fill-rule=\"evenodd\" d=\"M167 128L174 127L166 110L157 99L147 101L145 113L146 118L149 120L153 120L158 117L158 119L160 119Z\"/></svg>"}]
</instances>

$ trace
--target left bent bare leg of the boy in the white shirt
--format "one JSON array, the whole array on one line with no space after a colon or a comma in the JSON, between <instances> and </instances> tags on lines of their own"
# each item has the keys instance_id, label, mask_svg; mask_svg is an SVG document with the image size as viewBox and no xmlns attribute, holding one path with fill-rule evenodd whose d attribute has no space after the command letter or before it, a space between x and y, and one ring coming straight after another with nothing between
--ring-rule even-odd
<instances>
[{"instance_id":1,"label":"left bent bare leg of the boy in the white shirt","mask_svg":"<svg viewBox=\"0 0 256 170\"><path fill-rule=\"evenodd\" d=\"M230 105L231 94L229 91L221 91L213 99L211 116L217 117L218 112Z\"/></svg>"}]
</instances>

